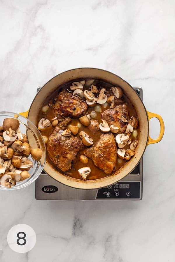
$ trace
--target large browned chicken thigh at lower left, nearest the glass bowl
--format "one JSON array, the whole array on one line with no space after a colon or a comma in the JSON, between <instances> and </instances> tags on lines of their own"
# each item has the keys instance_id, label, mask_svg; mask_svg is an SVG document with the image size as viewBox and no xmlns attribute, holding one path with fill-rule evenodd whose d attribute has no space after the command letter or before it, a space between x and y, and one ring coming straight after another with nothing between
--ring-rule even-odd
<instances>
[{"instance_id":1,"label":"large browned chicken thigh at lower left, nearest the glass bowl","mask_svg":"<svg viewBox=\"0 0 175 262\"><path fill-rule=\"evenodd\" d=\"M50 134L47 142L47 152L50 160L62 171L68 171L71 168L72 160L76 158L79 150L83 148L80 139L70 135L62 136L62 132L71 122L71 118L65 118L57 125Z\"/></svg>"}]
</instances>

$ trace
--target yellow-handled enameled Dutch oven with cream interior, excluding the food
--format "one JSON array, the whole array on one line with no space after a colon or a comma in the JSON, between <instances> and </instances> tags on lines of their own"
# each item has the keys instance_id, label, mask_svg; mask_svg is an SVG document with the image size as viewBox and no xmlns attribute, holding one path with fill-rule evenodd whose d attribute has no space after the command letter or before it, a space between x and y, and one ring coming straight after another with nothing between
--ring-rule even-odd
<instances>
[{"instance_id":1,"label":"yellow-handled enameled Dutch oven with cream interior, excluding the food","mask_svg":"<svg viewBox=\"0 0 175 262\"><path fill-rule=\"evenodd\" d=\"M139 119L139 144L136 147L135 155L131 158L122 168L120 168L115 173L97 180L78 180L71 178L69 176L64 175L61 171L55 169L50 163L47 162L44 165L44 171L53 177L55 180L75 188L80 189L95 189L100 187L106 187L108 185L114 184L115 182L121 180L125 176L127 176L139 163L146 147L150 144L155 144L159 142L164 134L164 122L160 115L150 113L146 110L142 100L139 95L134 91L132 86L128 84L125 80L123 80L118 75L115 75L106 70L97 69L97 68L76 68L72 70L68 70L63 72L52 79L50 79L36 94L29 111L21 113L23 116L27 117L30 121L32 121L37 126L37 118L39 111L43 105L43 101L53 93L56 89L59 90L60 86L64 83L72 81L74 79L100 79L105 82L111 83L113 86L120 86L123 89L125 95L131 100L134 105L137 117ZM157 118L160 122L160 134L157 139L152 139L149 136L149 120L151 118Z\"/></svg>"}]
</instances>

